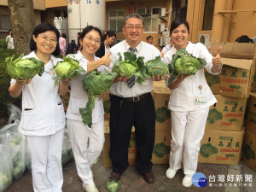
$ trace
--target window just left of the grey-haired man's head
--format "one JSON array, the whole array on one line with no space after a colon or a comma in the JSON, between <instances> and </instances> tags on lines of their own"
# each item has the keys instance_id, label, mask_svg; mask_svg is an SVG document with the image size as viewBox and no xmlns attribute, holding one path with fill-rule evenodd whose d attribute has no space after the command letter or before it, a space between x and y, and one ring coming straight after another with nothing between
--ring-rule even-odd
<instances>
[{"instance_id":1,"label":"window just left of the grey-haired man's head","mask_svg":"<svg viewBox=\"0 0 256 192\"><path fill-rule=\"evenodd\" d=\"M108 29L114 32L122 32L124 10L110 10L108 12Z\"/></svg>"}]
</instances>

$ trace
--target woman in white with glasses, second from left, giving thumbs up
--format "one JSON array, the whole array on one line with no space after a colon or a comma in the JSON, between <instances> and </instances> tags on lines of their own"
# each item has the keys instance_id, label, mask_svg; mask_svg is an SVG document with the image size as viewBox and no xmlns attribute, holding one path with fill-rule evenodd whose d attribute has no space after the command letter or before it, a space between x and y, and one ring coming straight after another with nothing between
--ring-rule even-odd
<instances>
[{"instance_id":1,"label":"woman in white with glasses, second from left, giving thumbs up","mask_svg":"<svg viewBox=\"0 0 256 192\"><path fill-rule=\"evenodd\" d=\"M111 60L108 55L102 58L94 55L101 44L102 32L94 27L87 26L80 35L79 41L83 49L75 55L79 65L87 73L97 69L103 71L109 66ZM86 74L84 74L86 75ZM88 95L82 88L84 75L73 79L71 85L70 99L67 108L67 130L71 140L73 155L76 162L77 172L83 181L85 191L97 192L93 181L90 166L99 157L104 144L104 108L102 99L95 98L95 107L92 110L91 128L84 125L79 108L85 108L88 102ZM85 85L86 86L86 85Z\"/></svg>"}]
</instances>

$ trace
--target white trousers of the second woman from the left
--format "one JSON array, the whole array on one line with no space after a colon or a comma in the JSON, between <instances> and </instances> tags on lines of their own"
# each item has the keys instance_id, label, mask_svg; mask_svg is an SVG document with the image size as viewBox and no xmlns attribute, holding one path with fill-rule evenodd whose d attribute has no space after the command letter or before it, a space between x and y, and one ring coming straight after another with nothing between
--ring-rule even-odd
<instances>
[{"instance_id":1,"label":"white trousers of the second woman from the left","mask_svg":"<svg viewBox=\"0 0 256 192\"><path fill-rule=\"evenodd\" d=\"M67 119L67 131L79 177L83 183L94 183L90 166L102 153L105 142L104 119L93 123L91 128L82 121Z\"/></svg>"}]
</instances>

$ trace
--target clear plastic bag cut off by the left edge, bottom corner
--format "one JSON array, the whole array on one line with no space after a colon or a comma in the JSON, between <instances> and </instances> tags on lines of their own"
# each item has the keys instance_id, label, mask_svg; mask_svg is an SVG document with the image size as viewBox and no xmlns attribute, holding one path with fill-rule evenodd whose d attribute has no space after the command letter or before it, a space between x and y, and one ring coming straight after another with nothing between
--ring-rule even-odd
<instances>
[{"instance_id":1,"label":"clear plastic bag cut off by the left edge, bottom corner","mask_svg":"<svg viewBox=\"0 0 256 192\"><path fill-rule=\"evenodd\" d=\"M7 189L13 180L13 163L6 146L6 132L0 133L0 192Z\"/></svg>"}]
</instances>

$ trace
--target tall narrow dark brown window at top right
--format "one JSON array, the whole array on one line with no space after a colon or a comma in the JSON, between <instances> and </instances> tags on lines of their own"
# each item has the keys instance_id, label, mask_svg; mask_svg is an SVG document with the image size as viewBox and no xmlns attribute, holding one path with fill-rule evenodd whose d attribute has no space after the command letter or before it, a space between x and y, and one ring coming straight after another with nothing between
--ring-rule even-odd
<instances>
[{"instance_id":1,"label":"tall narrow dark brown window at top right","mask_svg":"<svg viewBox=\"0 0 256 192\"><path fill-rule=\"evenodd\" d=\"M215 0L205 0L205 11L202 30L212 30Z\"/></svg>"}]
</instances>

